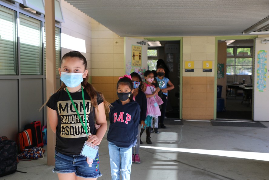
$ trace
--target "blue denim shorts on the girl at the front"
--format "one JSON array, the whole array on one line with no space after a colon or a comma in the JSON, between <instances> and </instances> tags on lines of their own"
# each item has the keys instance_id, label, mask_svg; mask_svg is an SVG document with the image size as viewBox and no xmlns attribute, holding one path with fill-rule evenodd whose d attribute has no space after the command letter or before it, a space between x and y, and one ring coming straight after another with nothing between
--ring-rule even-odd
<instances>
[{"instance_id":1,"label":"blue denim shorts on the girl at the front","mask_svg":"<svg viewBox=\"0 0 269 180\"><path fill-rule=\"evenodd\" d=\"M99 152L89 167L86 157L82 155L66 155L55 150L55 168L52 172L73 173L82 178L98 178L102 176L99 171Z\"/></svg>"}]
</instances>

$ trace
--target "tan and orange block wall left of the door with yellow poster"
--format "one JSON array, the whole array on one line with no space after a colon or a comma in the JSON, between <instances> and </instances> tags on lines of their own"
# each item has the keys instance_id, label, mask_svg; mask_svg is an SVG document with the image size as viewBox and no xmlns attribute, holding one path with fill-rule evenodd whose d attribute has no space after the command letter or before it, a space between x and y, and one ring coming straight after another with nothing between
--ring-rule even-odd
<instances>
[{"instance_id":1,"label":"tan and orange block wall left of the door with yellow poster","mask_svg":"<svg viewBox=\"0 0 269 180\"><path fill-rule=\"evenodd\" d=\"M125 73L124 38L95 20L92 20L91 27L92 85L112 103L118 99L118 78Z\"/></svg>"}]
</instances>

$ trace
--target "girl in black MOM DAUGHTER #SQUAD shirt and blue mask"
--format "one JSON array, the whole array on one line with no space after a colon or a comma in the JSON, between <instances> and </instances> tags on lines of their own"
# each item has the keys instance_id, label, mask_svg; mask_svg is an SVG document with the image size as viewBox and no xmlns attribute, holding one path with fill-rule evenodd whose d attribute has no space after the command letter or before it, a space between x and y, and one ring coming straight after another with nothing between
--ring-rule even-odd
<instances>
[{"instance_id":1,"label":"girl in black MOM DAUGHTER #SQUAD shirt and blue mask","mask_svg":"<svg viewBox=\"0 0 269 180\"><path fill-rule=\"evenodd\" d=\"M101 176L99 153L89 167L80 152L85 141L101 143L107 130L105 109L109 111L110 104L88 83L87 60L80 52L66 53L58 70L63 83L46 102L48 121L56 133L52 171L59 180L97 179Z\"/></svg>"}]
</instances>

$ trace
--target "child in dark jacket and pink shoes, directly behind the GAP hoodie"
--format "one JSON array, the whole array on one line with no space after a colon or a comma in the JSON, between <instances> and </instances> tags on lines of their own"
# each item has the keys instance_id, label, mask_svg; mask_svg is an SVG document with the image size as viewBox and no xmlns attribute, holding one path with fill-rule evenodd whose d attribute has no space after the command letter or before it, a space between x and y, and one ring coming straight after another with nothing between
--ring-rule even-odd
<instances>
[{"instance_id":1,"label":"child in dark jacket and pink shoes, directly behind the GAP hoodie","mask_svg":"<svg viewBox=\"0 0 269 180\"><path fill-rule=\"evenodd\" d=\"M140 148L140 132L141 132L141 125L145 126L145 120L146 120L146 114L147 114L147 98L143 91L141 91L141 88L143 86L141 76L138 73L131 73L130 76L132 77L132 81L134 84L134 93L133 93L133 100L136 101L140 106L140 120L138 124L138 135L137 135L137 141L135 144L135 147L133 147L133 162L134 163L140 163L140 157L139 157L139 148Z\"/></svg>"}]
</instances>

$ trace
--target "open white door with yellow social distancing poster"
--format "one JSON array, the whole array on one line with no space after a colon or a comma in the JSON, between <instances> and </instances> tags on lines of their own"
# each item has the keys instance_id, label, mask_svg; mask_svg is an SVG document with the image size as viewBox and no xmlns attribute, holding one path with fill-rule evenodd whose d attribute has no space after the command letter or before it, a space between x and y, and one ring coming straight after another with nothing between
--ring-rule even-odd
<instances>
[{"instance_id":1,"label":"open white door with yellow social distancing poster","mask_svg":"<svg viewBox=\"0 0 269 180\"><path fill-rule=\"evenodd\" d=\"M142 78L148 70L148 42L144 39L124 38L125 74L138 73Z\"/></svg>"}]
</instances>

